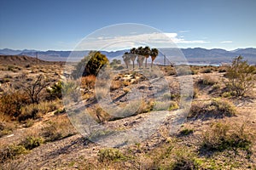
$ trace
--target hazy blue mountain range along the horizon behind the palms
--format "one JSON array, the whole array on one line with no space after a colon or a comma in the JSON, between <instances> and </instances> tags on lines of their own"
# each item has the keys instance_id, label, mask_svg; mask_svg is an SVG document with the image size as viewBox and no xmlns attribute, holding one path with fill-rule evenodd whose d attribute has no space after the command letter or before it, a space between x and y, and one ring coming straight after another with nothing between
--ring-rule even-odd
<instances>
[{"instance_id":1,"label":"hazy blue mountain range along the horizon behind the palms","mask_svg":"<svg viewBox=\"0 0 256 170\"><path fill-rule=\"evenodd\" d=\"M121 59L121 56L129 51L129 49L118 51L101 51L102 54L106 54L108 59ZM256 64L256 48L237 48L232 51L228 51L221 48L159 48L160 54L155 60L155 63L162 64L164 62L164 55L167 62L176 62L177 55L184 55L191 64L199 65L219 65L221 63L230 63L236 56L243 56L247 59L248 63ZM38 50L14 50L9 48L0 49L2 55L26 55L36 57L44 60L65 61L67 58L70 60L81 59L87 55L90 50L84 51L38 51Z\"/></svg>"}]
</instances>

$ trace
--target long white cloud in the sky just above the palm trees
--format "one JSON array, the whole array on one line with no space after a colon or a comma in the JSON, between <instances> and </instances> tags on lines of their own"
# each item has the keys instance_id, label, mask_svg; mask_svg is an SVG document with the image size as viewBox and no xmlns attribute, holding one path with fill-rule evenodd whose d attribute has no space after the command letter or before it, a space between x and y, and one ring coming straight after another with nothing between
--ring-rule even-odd
<instances>
[{"instance_id":1,"label":"long white cloud in the sky just above the palm trees","mask_svg":"<svg viewBox=\"0 0 256 170\"><path fill-rule=\"evenodd\" d=\"M130 34L116 37L87 37L79 43L77 49L117 50L148 45L155 48L173 48L176 44L201 44L204 40L185 40L178 37L176 32L153 32Z\"/></svg>"}]
</instances>

